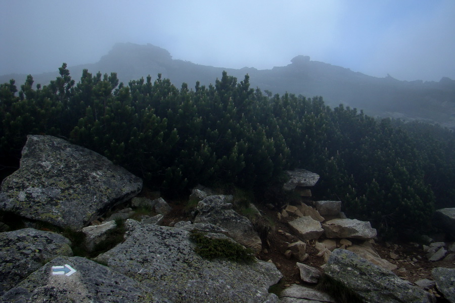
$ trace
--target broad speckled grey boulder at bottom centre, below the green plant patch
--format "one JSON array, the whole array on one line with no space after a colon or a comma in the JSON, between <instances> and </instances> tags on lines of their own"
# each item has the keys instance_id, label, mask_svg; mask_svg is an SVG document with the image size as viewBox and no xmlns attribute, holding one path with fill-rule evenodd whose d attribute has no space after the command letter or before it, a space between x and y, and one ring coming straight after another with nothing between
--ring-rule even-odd
<instances>
[{"instance_id":1,"label":"broad speckled grey boulder at bottom centre, below the green plant patch","mask_svg":"<svg viewBox=\"0 0 455 303\"><path fill-rule=\"evenodd\" d=\"M190 232L134 220L123 243L97 260L172 302L276 302L268 288L282 277L274 264L206 260L194 251ZM222 234L219 234L223 236Z\"/></svg>"}]
</instances>

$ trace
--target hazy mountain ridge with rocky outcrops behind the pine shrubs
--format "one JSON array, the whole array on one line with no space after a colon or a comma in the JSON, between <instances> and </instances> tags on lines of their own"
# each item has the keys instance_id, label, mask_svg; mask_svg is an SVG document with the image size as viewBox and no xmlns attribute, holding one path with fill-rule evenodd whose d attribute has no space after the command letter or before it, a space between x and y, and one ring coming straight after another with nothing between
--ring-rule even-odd
<instances>
[{"instance_id":1,"label":"hazy mountain ridge with rocky outcrops behind the pine shrubs","mask_svg":"<svg viewBox=\"0 0 455 303\"><path fill-rule=\"evenodd\" d=\"M115 44L97 63L70 67L72 78L78 81L83 69L93 74L98 71L103 74L116 72L124 83L147 75L153 79L160 73L176 86L186 82L190 87L196 81L201 85L209 85L214 79L220 78L225 70L239 81L248 74L251 86L262 91L268 90L274 94L289 92L307 97L321 95L330 106L344 104L373 116L436 122L455 129L455 80L446 77L439 82L399 81L390 75L377 78L311 61L307 56L297 56L291 60L291 64L270 70L248 67L226 69L174 60L163 48L133 43ZM42 85L57 76L57 67L55 73L33 75L35 84ZM11 78L21 85L26 75L0 76L0 82L8 82Z\"/></svg>"}]
</instances>

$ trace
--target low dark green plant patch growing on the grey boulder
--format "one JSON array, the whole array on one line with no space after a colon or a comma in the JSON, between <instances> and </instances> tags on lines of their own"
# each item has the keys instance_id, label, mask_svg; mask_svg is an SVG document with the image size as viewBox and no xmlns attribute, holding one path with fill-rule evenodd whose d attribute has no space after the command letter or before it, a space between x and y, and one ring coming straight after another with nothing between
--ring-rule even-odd
<instances>
[{"instance_id":1,"label":"low dark green plant patch growing on the grey boulder","mask_svg":"<svg viewBox=\"0 0 455 303\"><path fill-rule=\"evenodd\" d=\"M209 260L227 259L246 263L255 260L250 248L245 248L230 239L209 238L205 233L197 231L191 232L190 239L196 243L196 253Z\"/></svg>"}]
</instances>

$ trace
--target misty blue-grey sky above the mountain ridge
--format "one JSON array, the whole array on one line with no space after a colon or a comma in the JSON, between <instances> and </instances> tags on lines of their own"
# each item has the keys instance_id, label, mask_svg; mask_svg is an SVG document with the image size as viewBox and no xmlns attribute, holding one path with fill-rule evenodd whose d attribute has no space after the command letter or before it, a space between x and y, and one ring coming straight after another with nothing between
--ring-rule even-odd
<instances>
[{"instance_id":1,"label":"misty blue-grey sky above the mountain ridge","mask_svg":"<svg viewBox=\"0 0 455 303\"><path fill-rule=\"evenodd\" d=\"M270 69L297 55L399 80L455 79L454 0L0 0L0 75L95 63L115 42Z\"/></svg>"}]
</instances>

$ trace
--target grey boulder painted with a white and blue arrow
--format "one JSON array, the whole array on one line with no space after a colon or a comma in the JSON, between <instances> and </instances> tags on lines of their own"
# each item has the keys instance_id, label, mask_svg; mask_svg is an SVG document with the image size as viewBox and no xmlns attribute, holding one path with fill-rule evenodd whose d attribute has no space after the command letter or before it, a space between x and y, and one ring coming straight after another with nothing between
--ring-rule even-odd
<instances>
[{"instance_id":1,"label":"grey boulder painted with a white and blue arrow","mask_svg":"<svg viewBox=\"0 0 455 303\"><path fill-rule=\"evenodd\" d=\"M54 266L63 269L53 269ZM54 274L58 271L63 274ZM145 303L163 300L155 297L146 285L141 285L123 274L88 259L72 257L56 258L40 267L0 297L0 302Z\"/></svg>"}]
</instances>

